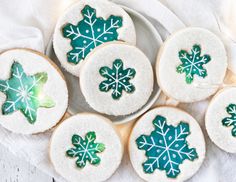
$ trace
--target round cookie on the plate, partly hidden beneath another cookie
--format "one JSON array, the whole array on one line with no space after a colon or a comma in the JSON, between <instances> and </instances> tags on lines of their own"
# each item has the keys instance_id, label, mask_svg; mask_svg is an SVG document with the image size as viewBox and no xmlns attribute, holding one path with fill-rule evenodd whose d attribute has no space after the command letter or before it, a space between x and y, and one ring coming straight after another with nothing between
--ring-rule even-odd
<instances>
[{"instance_id":1,"label":"round cookie on the plate, partly hidden beneath another cookie","mask_svg":"<svg viewBox=\"0 0 236 182\"><path fill-rule=\"evenodd\" d=\"M86 56L97 46L114 40L136 44L132 19L107 0L80 0L58 20L53 46L62 66L79 76Z\"/></svg>"}]
</instances>

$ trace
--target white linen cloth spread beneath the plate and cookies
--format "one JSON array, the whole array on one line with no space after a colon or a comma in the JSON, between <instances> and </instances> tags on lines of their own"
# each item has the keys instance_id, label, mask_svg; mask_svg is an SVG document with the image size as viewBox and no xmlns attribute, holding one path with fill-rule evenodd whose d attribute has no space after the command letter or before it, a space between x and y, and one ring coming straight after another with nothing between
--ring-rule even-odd
<instances>
[{"instance_id":1,"label":"white linen cloth spread beneath the plate and cookies","mask_svg":"<svg viewBox=\"0 0 236 182\"><path fill-rule=\"evenodd\" d=\"M45 52L61 12L76 0L1 0L0 51L26 47ZM235 0L113 0L145 15L163 39L185 26L210 29L225 42L229 69L236 73L236 1ZM204 113L208 101L181 104L200 123L207 141L203 166L192 182L236 181L236 155L223 152L208 138L204 129ZM24 158L42 171L63 180L48 158L51 133L23 136L0 127L0 143L18 157ZM126 151L127 153L127 151ZM133 171L127 154L121 167L108 181L142 181Z\"/></svg>"}]
</instances>

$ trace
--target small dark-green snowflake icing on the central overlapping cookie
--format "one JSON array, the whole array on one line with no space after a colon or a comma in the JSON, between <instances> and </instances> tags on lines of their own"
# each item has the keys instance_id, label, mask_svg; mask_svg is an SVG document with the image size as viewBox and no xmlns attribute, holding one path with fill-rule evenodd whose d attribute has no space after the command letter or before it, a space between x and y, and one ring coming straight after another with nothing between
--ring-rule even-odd
<instances>
[{"instance_id":1,"label":"small dark-green snowflake icing on the central overlapping cookie","mask_svg":"<svg viewBox=\"0 0 236 182\"><path fill-rule=\"evenodd\" d=\"M113 89L112 98L117 100L122 96L122 90L127 93L132 93L135 90L133 84L129 83L129 80L134 78L136 71L132 68L123 69L123 62L120 59L116 59L113 62L113 67L102 67L99 70L99 73L107 78L99 85L99 89L102 92L108 92L110 89Z\"/></svg>"}]
</instances>

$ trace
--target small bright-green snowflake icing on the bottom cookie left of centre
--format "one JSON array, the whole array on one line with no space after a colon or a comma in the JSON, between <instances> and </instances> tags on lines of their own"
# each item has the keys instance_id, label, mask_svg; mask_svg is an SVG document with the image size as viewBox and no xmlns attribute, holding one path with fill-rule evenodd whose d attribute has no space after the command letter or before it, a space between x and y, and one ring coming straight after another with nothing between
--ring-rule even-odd
<instances>
[{"instance_id":1,"label":"small bright-green snowflake icing on the bottom cookie left of centre","mask_svg":"<svg viewBox=\"0 0 236 182\"><path fill-rule=\"evenodd\" d=\"M93 131L85 135L85 140L79 135L73 135L72 144L75 148L67 150L67 156L72 158L77 157L76 165L79 168L83 168L86 165L86 161L89 161L93 165L98 165L101 159L97 156L97 153L103 152L105 145L102 143L94 143L95 140L96 134Z\"/></svg>"}]
</instances>

